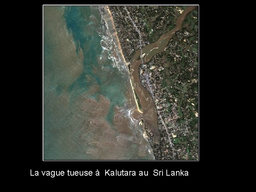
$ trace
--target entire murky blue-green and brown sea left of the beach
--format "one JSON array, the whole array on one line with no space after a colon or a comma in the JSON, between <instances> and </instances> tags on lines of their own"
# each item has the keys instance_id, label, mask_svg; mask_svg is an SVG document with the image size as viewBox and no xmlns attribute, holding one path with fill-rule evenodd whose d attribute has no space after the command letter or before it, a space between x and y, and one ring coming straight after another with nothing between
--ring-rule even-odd
<instances>
[{"instance_id":1,"label":"entire murky blue-green and brown sea left of the beach","mask_svg":"<svg viewBox=\"0 0 256 192\"><path fill-rule=\"evenodd\" d=\"M97 6L44 6L44 160L154 159Z\"/></svg>"}]
</instances>

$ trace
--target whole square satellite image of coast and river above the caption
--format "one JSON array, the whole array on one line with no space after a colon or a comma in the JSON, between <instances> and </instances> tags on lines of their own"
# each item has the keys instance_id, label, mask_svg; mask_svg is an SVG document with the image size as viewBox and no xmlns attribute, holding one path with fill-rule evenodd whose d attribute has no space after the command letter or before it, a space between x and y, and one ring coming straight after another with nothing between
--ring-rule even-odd
<instances>
[{"instance_id":1,"label":"whole square satellite image of coast and river above the caption","mask_svg":"<svg viewBox=\"0 0 256 192\"><path fill-rule=\"evenodd\" d=\"M43 160L199 160L199 6L43 6Z\"/></svg>"}]
</instances>

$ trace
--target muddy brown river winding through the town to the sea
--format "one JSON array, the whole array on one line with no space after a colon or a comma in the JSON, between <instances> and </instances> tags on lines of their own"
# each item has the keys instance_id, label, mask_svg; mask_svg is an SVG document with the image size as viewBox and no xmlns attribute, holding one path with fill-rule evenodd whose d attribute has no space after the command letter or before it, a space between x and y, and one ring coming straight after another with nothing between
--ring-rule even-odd
<instances>
[{"instance_id":1,"label":"muddy brown river winding through the town to the sea","mask_svg":"<svg viewBox=\"0 0 256 192\"><path fill-rule=\"evenodd\" d=\"M139 96L140 105L142 106L142 112L141 116L143 116L144 122L146 124L146 127L153 131L154 133L154 143L159 143L160 140L160 134L158 130L158 119L157 119L157 111L155 107L155 102L153 101L153 98L151 97L150 92L152 90L146 90L139 79L139 72L138 68L140 64L143 62L143 64L146 64L150 61L150 59L158 54L164 51L165 47L169 43L169 40L172 38L172 36L175 34L176 31L180 30L182 23L184 19L186 18L187 14L194 10L196 6L188 6L182 14L177 18L176 20L176 27L172 29L171 31L168 31L167 33L163 34L158 41L148 44L147 46L143 47L142 50L137 50L135 54L133 55L131 62L130 62L130 75L132 79L132 84L134 87L135 92ZM140 60L137 58L144 54L145 56L143 60ZM147 78L148 79L148 78ZM149 80L147 80L149 81ZM148 82L149 83L149 82ZM149 84L149 86L151 86ZM159 85L160 86L160 85ZM161 117L161 116L160 116ZM161 119L161 118L160 118ZM163 120L162 120L163 121ZM165 127L165 122L162 122L163 126ZM165 127L166 129L166 127ZM167 129L166 129L167 131ZM167 131L167 134L168 131ZM171 138L169 137L169 141L171 143Z\"/></svg>"}]
</instances>

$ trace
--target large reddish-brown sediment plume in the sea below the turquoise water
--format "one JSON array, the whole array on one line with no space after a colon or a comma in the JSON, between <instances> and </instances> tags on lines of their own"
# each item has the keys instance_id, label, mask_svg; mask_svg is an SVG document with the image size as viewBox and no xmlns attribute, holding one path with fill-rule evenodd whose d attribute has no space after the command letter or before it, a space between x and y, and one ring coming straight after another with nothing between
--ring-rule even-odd
<instances>
[{"instance_id":1,"label":"large reddish-brown sediment plume in the sea below the turquoise water","mask_svg":"<svg viewBox=\"0 0 256 192\"><path fill-rule=\"evenodd\" d=\"M98 85L91 86L89 91L79 96L72 104L73 118L82 121L81 124L76 125L75 130L79 135L78 143L84 145L82 153L86 153L88 159L100 160L150 158L147 151L148 142L142 135L136 134L137 130L130 126L130 119L126 116L124 108L114 107L112 120L114 128L107 122L110 100L103 95L98 96L98 101L89 97L98 89ZM134 151L131 154L132 148Z\"/></svg>"}]
</instances>

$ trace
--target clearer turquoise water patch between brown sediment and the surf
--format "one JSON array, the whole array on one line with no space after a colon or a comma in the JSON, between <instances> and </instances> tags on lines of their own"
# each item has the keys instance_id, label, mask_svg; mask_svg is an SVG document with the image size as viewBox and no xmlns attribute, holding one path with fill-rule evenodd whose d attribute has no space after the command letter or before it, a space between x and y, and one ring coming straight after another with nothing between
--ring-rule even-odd
<instances>
[{"instance_id":1,"label":"clearer turquoise water patch between brown sediment and the surf","mask_svg":"<svg viewBox=\"0 0 256 192\"><path fill-rule=\"evenodd\" d=\"M126 79L119 74L117 68L112 68L109 59L104 60L103 67L109 69L111 75L102 73L102 70L97 69L99 63L96 58L102 52L100 43L102 38L97 32L97 28L101 25L101 17L97 10L91 10L89 6L66 7L64 17L68 31L73 34L76 52L80 46L84 54L82 75L70 85L69 91L75 96L87 91L92 85L99 85L100 91L90 95L90 97L97 100L97 96L100 94L111 101L107 120L112 124L113 107L122 106L125 102L124 90L122 91L122 89L124 89L123 84ZM87 81L86 75L89 75L92 81Z\"/></svg>"}]
</instances>

